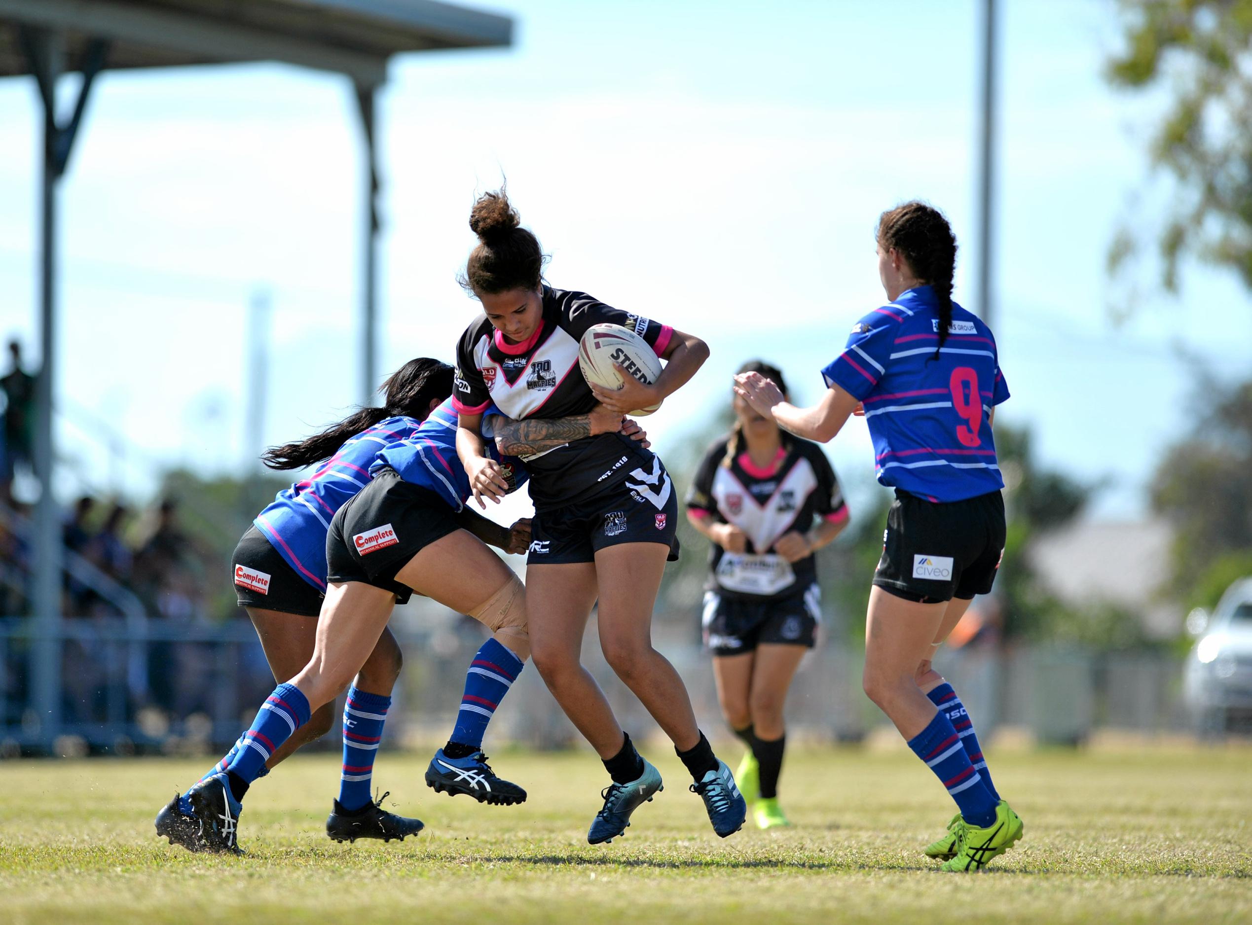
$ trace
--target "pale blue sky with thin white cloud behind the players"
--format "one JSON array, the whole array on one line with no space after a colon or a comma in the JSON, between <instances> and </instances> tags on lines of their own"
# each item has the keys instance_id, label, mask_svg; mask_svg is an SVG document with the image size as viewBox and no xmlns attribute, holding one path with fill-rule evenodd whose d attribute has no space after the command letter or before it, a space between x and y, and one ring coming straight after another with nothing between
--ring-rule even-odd
<instances>
[{"instance_id":1,"label":"pale blue sky with thin white cloud behind the players","mask_svg":"<svg viewBox=\"0 0 1252 925\"><path fill-rule=\"evenodd\" d=\"M900 200L947 212L955 297L978 310L980 4L496 9L516 18L512 49L401 58L379 100L381 373L452 359L477 312L456 282L468 209L503 176L553 285L712 348L647 421L662 457L704 433L750 357L819 397L849 323L883 300L873 229ZM992 324L1013 399L998 421L1102 486L1093 517L1142 517L1202 401L1194 368L1252 374L1248 294L1207 267L1177 298L1152 295L1151 275L1109 278L1119 222L1167 198L1146 156L1162 99L1104 83L1112 3L1002 9ZM39 124L33 81L0 81L0 335L36 359ZM342 78L258 64L99 79L61 192L64 494L144 494L174 464L254 471L257 344L263 443L361 399L363 169ZM864 422L829 452L854 499L873 489Z\"/></svg>"}]
</instances>

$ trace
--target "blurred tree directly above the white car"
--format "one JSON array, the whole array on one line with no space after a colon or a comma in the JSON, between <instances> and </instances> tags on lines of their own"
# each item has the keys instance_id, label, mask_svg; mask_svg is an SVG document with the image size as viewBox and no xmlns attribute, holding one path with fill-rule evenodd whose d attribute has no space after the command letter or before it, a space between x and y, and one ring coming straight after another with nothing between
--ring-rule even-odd
<instances>
[{"instance_id":1,"label":"blurred tree directly above the white car","mask_svg":"<svg viewBox=\"0 0 1252 925\"><path fill-rule=\"evenodd\" d=\"M1252 573L1252 382L1202 382L1198 392L1204 411L1157 466L1152 506L1177 531L1174 587L1211 607Z\"/></svg>"}]
</instances>

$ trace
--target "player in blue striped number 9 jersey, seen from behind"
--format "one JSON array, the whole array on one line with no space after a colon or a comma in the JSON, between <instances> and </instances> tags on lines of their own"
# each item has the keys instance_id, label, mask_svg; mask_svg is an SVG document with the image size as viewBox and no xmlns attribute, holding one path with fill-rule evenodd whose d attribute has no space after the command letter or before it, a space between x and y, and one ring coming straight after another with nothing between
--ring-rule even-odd
<instances>
[{"instance_id":1,"label":"player in blue striped number 9 jersey, seen from behind","mask_svg":"<svg viewBox=\"0 0 1252 925\"><path fill-rule=\"evenodd\" d=\"M924 203L884 212L878 270L889 304L861 318L823 369L829 389L798 408L759 373L735 391L786 431L826 442L864 407L878 479L895 488L865 621L865 693L943 781L959 812L925 854L974 871L1022 837L1022 820L987 771L973 722L930 667L974 595L992 590L1004 551L1004 501L992 436L1009 397L990 329L952 300L957 238Z\"/></svg>"}]
</instances>

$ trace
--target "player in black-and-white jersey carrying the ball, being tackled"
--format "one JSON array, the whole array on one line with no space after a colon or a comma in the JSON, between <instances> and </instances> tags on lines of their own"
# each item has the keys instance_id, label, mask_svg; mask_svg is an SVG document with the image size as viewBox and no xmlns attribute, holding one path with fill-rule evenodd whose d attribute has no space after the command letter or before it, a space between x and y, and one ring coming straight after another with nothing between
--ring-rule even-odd
<instances>
[{"instance_id":1,"label":"player in black-and-white jersey carrying the ball, being tackled","mask_svg":"<svg viewBox=\"0 0 1252 925\"><path fill-rule=\"evenodd\" d=\"M457 448L476 497L506 489L487 454L483 412L531 422L586 414L597 402L626 414L661 402L690 379L709 355L696 337L627 314L586 293L543 283L543 253L503 190L475 204L470 227L480 244L463 285L483 314L457 344L453 399L461 414ZM667 365L651 386L622 371L617 392L588 386L580 371L583 334L617 324L641 337ZM605 762L612 782L587 841L621 835L630 815L661 789L656 769L640 757L608 701L578 661L582 633L598 598L600 645L617 676L674 741L691 772L717 835L742 827L746 815L730 769L696 726L682 678L651 641L652 606L667 560L677 557L677 497L661 461L645 448L598 429L571 428L563 438L505 447L526 459L535 519L527 557L527 617L535 665L561 708Z\"/></svg>"}]
</instances>

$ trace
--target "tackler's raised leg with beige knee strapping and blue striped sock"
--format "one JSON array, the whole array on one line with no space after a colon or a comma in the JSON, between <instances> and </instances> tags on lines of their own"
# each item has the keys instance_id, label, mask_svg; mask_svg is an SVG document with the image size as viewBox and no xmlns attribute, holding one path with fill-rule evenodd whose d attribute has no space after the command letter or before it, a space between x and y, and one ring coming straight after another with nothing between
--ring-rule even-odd
<instances>
[{"instance_id":1,"label":"tackler's raised leg with beige knee strapping and blue striped sock","mask_svg":"<svg viewBox=\"0 0 1252 925\"><path fill-rule=\"evenodd\" d=\"M476 593L481 596L464 612L491 630L492 636L470 661L456 725L447 744L431 760L426 782L449 796L466 794L480 802L508 806L523 802L526 791L495 775L483 755L482 740L530 656L526 588L498 556L478 541L464 542L464 537L457 539L458 554L463 556L461 568L477 577ZM401 570L397 578L404 581L406 571ZM483 588L490 588L486 596Z\"/></svg>"}]
</instances>

